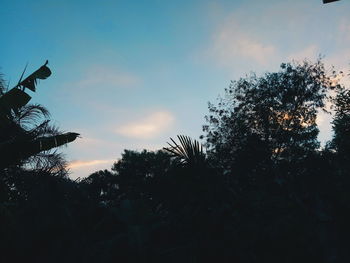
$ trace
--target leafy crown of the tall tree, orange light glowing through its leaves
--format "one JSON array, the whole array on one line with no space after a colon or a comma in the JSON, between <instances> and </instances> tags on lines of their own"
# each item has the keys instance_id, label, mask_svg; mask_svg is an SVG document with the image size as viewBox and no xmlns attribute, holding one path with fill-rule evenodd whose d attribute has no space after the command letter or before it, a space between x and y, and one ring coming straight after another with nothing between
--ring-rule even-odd
<instances>
[{"instance_id":1,"label":"leafy crown of the tall tree, orange light glowing through its leaves","mask_svg":"<svg viewBox=\"0 0 350 263\"><path fill-rule=\"evenodd\" d=\"M283 63L280 71L231 82L203 127L209 151L226 167L298 160L319 147L317 112L333 89L321 59Z\"/></svg>"}]
</instances>

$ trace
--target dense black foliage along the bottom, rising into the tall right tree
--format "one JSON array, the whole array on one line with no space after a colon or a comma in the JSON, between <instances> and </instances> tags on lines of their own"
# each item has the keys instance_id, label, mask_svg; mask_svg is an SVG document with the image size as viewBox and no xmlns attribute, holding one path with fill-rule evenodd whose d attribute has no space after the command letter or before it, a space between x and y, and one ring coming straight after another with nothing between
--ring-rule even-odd
<instances>
[{"instance_id":1,"label":"dense black foliage along the bottom, rising into the tall right tree","mask_svg":"<svg viewBox=\"0 0 350 263\"><path fill-rule=\"evenodd\" d=\"M350 92L335 75L319 60L232 82L209 105L206 150L178 136L76 181L2 168L0 260L348 262Z\"/></svg>"}]
</instances>

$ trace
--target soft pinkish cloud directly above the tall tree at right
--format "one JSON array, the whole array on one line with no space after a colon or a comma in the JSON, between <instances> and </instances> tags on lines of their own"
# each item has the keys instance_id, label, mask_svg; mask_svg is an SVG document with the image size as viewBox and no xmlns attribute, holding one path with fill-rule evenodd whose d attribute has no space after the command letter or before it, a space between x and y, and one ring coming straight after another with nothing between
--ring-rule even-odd
<instances>
[{"instance_id":1,"label":"soft pinkish cloud directly above the tall tree at right","mask_svg":"<svg viewBox=\"0 0 350 263\"><path fill-rule=\"evenodd\" d=\"M264 43L243 30L233 19L216 30L213 40L212 55L221 64L244 59L265 65L276 53L276 48L272 44Z\"/></svg>"}]
</instances>

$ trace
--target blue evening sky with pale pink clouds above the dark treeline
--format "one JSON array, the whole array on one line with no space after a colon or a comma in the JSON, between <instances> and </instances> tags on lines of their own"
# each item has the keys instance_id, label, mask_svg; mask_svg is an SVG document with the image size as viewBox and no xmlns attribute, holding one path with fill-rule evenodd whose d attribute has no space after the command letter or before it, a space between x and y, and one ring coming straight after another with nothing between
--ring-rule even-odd
<instances>
[{"instance_id":1,"label":"blue evening sky with pale pink clouds above the dark treeline","mask_svg":"<svg viewBox=\"0 0 350 263\"><path fill-rule=\"evenodd\" d=\"M30 95L81 134L61 149L76 179L124 149L198 139L208 102L249 72L319 55L349 72L349 13L347 0L1 0L0 72L11 87L27 63L31 73L49 60ZM318 117L322 142L330 121Z\"/></svg>"}]
</instances>

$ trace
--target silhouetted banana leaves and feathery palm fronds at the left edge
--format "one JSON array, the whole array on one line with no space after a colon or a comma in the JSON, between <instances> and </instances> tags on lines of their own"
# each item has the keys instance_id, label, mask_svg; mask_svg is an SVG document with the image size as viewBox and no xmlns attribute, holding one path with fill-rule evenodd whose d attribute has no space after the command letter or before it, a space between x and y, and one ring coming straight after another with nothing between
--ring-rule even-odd
<instances>
[{"instance_id":1,"label":"silhouetted banana leaves and feathery palm fronds at the left edge","mask_svg":"<svg viewBox=\"0 0 350 263\"><path fill-rule=\"evenodd\" d=\"M41 105L28 104L31 97L25 92L36 90L38 79L51 75L46 63L9 91L4 82L0 91L0 151L5 152L0 168L10 165L36 163L36 167L62 170L62 158L47 151L74 141L78 133L63 133L49 125L49 112ZM59 169L58 169L59 168Z\"/></svg>"}]
</instances>

